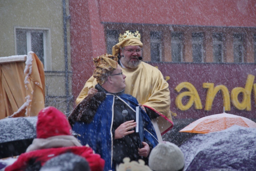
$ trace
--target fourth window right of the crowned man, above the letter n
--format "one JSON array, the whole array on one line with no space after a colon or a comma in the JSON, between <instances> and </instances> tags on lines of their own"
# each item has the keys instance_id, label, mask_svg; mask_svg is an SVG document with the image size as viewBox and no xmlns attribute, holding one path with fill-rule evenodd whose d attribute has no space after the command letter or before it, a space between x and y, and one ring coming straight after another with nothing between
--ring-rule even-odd
<instances>
[{"instance_id":1,"label":"fourth window right of the crowned man, above the letter n","mask_svg":"<svg viewBox=\"0 0 256 171\"><path fill-rule=\"evenodd\" d=\"M213 62L223 62L222 33L213 33Z\"/></svg>"}]
</instances>

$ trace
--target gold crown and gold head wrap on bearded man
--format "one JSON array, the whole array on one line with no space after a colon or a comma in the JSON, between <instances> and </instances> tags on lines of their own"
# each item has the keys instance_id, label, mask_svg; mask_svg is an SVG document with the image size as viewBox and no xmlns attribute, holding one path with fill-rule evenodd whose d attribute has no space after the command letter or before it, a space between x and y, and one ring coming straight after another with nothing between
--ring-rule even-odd
<instances>
[{"instance_id":1,"label":"gold crown and gold head wrap on bearded man","mask_svg":"<svg viewBox=\"0 0 256 171\"><path fill-rule=\"evenodd\" d=\"M140 46L142 47L143 44L140 41L141 35L139 31L135 31L132 33L130 30L125 31L124 34L119 35L119 43L112 47L112 55L118 56L119 48L123 48L125 46Z\"/></svg>"}]
</instances>

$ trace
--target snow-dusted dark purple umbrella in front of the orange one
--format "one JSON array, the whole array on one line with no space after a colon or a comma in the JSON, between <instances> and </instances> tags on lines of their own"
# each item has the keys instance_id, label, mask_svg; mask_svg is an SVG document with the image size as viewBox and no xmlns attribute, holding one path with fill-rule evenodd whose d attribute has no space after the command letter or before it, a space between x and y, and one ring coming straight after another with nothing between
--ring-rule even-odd
<instances>
[{"instance_id":1,"label":"snow-dusted dark purple umbrella in front of the orange one","mask_svg":"<svg viewBox=\"0 0 256 171\"><path fill-rule=\"evenodd\" d=\"M256 168L256 128L234 125L215 133L196 135L180 148L187 171Z\"/></svg>"}]
</instances>

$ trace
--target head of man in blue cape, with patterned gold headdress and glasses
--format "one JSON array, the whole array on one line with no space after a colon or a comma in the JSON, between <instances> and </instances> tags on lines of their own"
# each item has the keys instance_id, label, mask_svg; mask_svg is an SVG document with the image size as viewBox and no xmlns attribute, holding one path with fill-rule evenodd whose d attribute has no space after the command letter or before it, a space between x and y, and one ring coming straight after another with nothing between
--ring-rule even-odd
<instances>
[{"instance_id":1,"label":"head of man in blue cape, with patterned gold headdress and glasses","mask_svg":"<svg viewBox=\"0 0 256 171\"><path fill-rule=\"evenodd\" d=\"M122 69L117 63L117 57L104 54L94 58L95 70L93 73L98 84L110 93L118 93L125 89L125 78Z\"/></svg>"}]
</instances>

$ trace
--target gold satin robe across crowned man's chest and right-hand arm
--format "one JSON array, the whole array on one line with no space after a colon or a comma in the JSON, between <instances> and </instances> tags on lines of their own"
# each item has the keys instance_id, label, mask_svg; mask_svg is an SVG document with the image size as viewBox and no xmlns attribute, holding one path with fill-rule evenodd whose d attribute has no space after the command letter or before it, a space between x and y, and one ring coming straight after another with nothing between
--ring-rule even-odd
<instances>
[{"instance_id":1,"label":"gold satin robe across crowned man's chest and right-hand arm","mask_svg":"<svg viewBox=\"0 0 256 171\"><path fill-rule=\"evenodd\" d=\"M125 93L172 121L169 85L156 67L141 62L137 68L123 68L123 73L126 75Z\"/></svg>"}]
</instances>

